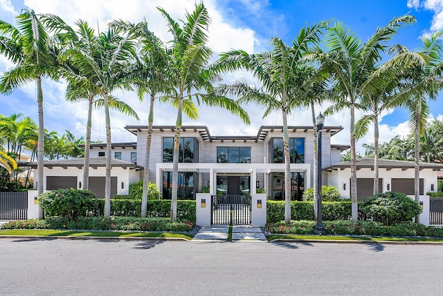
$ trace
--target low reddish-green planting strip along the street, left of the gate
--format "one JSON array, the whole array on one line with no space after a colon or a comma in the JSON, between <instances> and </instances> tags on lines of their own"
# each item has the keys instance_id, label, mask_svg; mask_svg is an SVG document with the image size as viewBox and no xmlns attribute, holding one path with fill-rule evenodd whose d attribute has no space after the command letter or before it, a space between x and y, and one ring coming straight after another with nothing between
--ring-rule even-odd
<instances>
[{"instance_id":1,"label":"low reddish-green planting strip along the street, left of the gate","mask_svg":"<svg viewBox=\"0 0 443 296\"><path fill-rule=\"evenodd\" d=\"M195 223L191 221L170 223L168 218L136 218L79 216L75 221L66 217L48 217L45 220L30 219L12 221L2 226L2 229L63 229L63 230L130 230L130 231L172 231L189 232Z\"/></svg>"}]
</instances>

